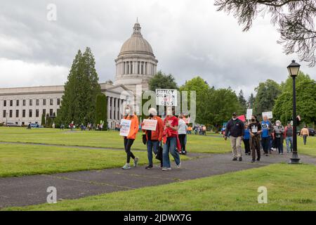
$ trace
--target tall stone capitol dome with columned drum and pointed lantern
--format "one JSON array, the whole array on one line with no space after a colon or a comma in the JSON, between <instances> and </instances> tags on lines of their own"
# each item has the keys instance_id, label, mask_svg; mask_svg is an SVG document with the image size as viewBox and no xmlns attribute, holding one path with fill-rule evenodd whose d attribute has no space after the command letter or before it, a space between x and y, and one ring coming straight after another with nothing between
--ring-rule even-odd
<instances>
[{"instance_id":1,"label":"tall stone capitol dome with columned drum and pointed lantern","mask_svg":"<svg viewBox=\"0 0 316 225\"><path fill-rule=\"evenodd\" d=\"M136 93L136 86L148 89L148 82L157 73L158 60L152 46L143 38L138 21L133 27L133 34L124 42L115 59L116 75L114 84L123 84Z\"/></svg>"}]
</instances>

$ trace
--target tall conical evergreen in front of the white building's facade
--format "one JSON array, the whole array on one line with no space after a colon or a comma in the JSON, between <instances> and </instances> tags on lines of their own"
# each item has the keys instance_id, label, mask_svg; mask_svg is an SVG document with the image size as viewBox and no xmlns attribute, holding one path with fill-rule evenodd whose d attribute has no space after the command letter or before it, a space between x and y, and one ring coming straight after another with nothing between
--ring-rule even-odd
<instances>
[{"instance_id":1,"label":"tall conical evergreen in front of the white building's facade","mask_svg":"<svg viewBox=\"0 0 316 225\"><path fill-rule=\"evenodd\" d=\"M70 74L65 83L60 113L56 122L87 124L96 120L96 96L101 93L98 84L96 62L88 47L82 54L79 50L74 58Z\"/></svg>"}]
</instances>

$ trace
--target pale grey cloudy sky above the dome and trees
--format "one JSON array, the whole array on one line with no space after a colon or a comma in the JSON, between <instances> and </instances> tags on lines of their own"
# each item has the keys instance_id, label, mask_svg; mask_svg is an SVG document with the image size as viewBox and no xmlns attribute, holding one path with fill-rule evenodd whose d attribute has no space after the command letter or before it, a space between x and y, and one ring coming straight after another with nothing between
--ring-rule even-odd
<instances>
[{"instance_id":1,"label":"pale grey cloudy sky above the dome and trees","mask_svg":"<svg viewBox=\"0 0 316 225\"><path fill-rule=\"evenodd\" d=\"M57 7L55 21L47 19L48 4ZM270 18L242 32L213 0L11 0L0 8L0 87L64 84L75 54L86 46L100 82L114 80L114 58L137 17L158 70L178 84L199 75L216 88L231 86L249 96L258 82L286 79L287 65L297 58L282 52ZM315 68L301 64L316 79Z\"/></svg>"}]
</instances>

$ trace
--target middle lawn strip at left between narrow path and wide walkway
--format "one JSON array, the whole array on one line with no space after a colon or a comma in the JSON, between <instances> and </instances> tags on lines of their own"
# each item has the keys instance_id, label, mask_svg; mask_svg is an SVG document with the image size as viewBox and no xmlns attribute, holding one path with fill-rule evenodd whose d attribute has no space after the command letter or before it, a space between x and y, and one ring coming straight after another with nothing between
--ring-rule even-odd
<instances>
[{"instance_id":1,"label":"middle lawn strip at left between narrow path and wide walkway","mask_svg":"<svg viewBox=\"0 0 316 225\"><path fill-rule=\"evenodd\" d=\"M140 158L139 165L148 163L147 152L134 153ZM181 155L181 160L187 159ZM121 167L125 162L124 150L0 143L0 177L108 169Z\"/></svg>"}]
</instances>

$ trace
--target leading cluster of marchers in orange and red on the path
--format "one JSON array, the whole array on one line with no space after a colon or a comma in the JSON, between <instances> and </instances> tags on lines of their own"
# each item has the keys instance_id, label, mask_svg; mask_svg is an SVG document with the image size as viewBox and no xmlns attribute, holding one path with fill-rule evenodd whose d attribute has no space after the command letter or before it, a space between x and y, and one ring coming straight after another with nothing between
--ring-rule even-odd
<instances>
[{"instance_id":1,"label":"leading cluster of marchers in orange and red on the path","mask_svg":"<svg viewBox=\"0 0 316 225\"><path fill-rule=\"evenodd\" d=\"M136 139L136 134L138 133L139 127L143 127L143 124L138 124L138 117L133 113L132 105L126 105L125 107L125 120L131 120L131 127L129 130L129 135L124 136L124 148L126 151L126 164L122 169L131 169L131 158L133 159L133 167L138 165L139 158L133 155L131 152L131 146ZM147 144L147 157L148 165L145 169L153 168L153 157L152 152L155 155L158 153L159 147L162 147L162 159L161 167L163 171L171 170L171 163L169 158L169 153L173 156L176 162L177 168L181 167L180 154L186 154L185 143L187 134L187 124L183 120L183 115L179 117L174 116L173 108L167 107L166 118L162 120L157 116L157 110L155 108L150 108L148 110L149 120L157 120L156 130L143 130L145 132L146 144Z\"/></svg>"}]
</instances>

